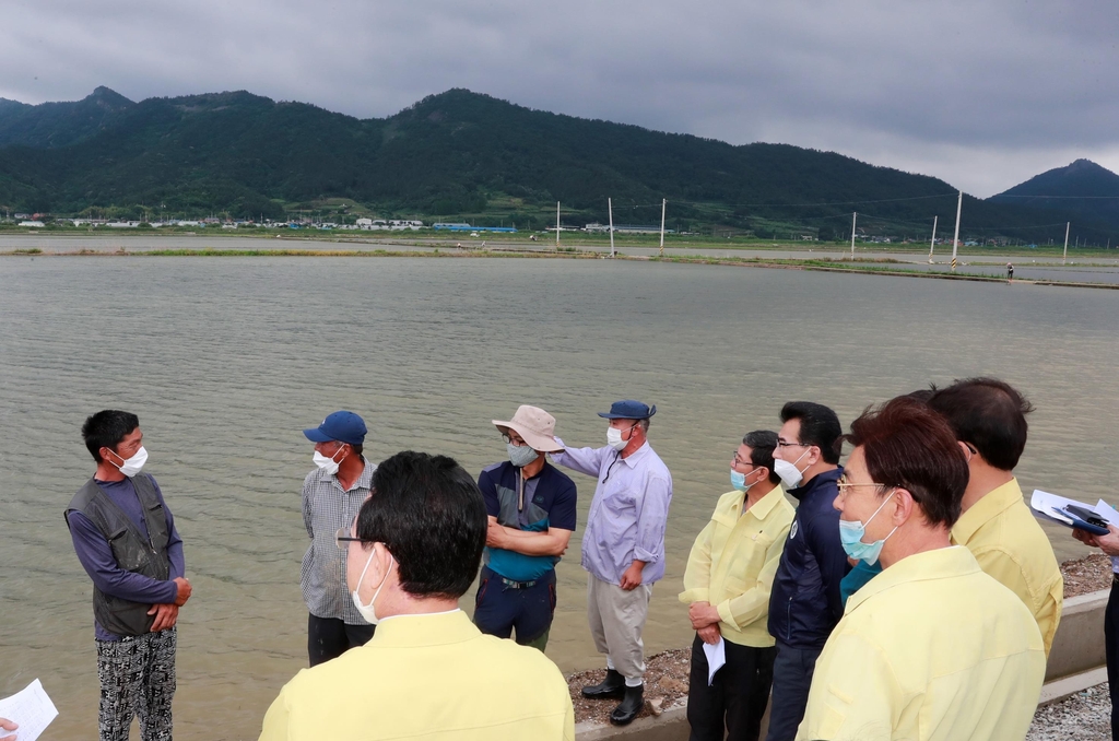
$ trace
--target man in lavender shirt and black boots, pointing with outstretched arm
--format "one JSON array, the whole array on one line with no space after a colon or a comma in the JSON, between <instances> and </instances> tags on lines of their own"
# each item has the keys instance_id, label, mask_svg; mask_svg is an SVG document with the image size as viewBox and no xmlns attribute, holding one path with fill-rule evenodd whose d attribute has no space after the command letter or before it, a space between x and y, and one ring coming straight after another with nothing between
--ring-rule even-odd
<instances>
[{"instance_id":1,"label":"man in lavender shirt and black boots, pointing with outstretched arm","mask_svg":"<svg viewBox=\"0 0 1119 741\"><path fill-rule=\"evenodd\" d=\"M610 420L604 448L568 448L552 460L598 478L586 533L586 612L606 678L583 687L589 698L621 698L610 722L626 725L645 705L645 644L652 584L665 575L665 526L673 477L648 442L656 406L627 400L599 416Z\"/></svg>"}]
</instances>

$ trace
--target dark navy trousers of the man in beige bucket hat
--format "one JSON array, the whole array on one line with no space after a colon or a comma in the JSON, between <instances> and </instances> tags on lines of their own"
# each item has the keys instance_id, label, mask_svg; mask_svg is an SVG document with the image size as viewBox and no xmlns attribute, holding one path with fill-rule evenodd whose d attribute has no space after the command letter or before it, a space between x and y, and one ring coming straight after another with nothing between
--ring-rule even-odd
<instances>
[{"instance_id":1,"label":"dark navy trousers of the man in beige bucket hat","mask_svg":"<svg viewBox=\"0 0 1119 741\"><path fill-rule=\"evenodd\" d=\"M544 650L556 609L556 572L549 571L525 589L510 587L489 566L482 566L474 598L474 625L482 632ZM542 640L543 639L543 640Z\"/></svg>"}]
</instances>

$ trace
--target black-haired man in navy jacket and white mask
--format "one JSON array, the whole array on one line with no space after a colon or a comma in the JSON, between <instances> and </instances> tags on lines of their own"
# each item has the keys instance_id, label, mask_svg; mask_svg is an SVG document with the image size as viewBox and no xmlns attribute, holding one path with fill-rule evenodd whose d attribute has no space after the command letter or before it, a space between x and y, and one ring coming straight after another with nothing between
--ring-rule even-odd
<instances>
[{"instance_id":1,"label":"black-haired man in navy jacket and white mask","mask_svg":"<svg viewBox=\"0 0 1119 741\"><path fill-rule=\"evenodd\" d=\"M839 542L839 513L831 506L843 473L839 418L822 404L789 402L781 423L773 466L800 506L770 598L777 659L768 741L792 741L797 734L816 659L843 617L839 583L850 570Z\"/></svg>"}]
</instances>

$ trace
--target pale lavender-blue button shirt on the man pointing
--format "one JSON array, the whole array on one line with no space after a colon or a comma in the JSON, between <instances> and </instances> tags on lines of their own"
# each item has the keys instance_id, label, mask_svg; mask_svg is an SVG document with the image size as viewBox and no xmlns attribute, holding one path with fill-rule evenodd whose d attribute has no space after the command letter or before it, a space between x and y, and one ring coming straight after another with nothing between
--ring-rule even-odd
<instances>
[{"instance_id":1,"label":"pale lavender-blue button shirt on the man pointing","mask_svg":"<svg viewBox=\"0 0 1119 741\"><path fill-rule=\"evenodd\" d=\"M556 438L561 445L563 441ZM645 561L641 583L665 575L665 526L673 477L649 443L627 458L609 447L566 448L552 460L598 478L583 533L583 568L618 584L634 561Z\"/></svg>"}]
</instances>

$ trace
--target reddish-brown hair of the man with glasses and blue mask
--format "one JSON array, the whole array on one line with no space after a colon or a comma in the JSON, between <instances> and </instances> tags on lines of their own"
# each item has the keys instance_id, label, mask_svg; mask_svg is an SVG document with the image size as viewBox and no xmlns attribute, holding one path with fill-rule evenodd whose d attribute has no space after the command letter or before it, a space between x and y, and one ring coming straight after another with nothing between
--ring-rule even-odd
<instances>
[{"instance_id":1,"label":"reddish-brown hair of the man with glasses and blue mask","mask_svg":"<svg viewBox=\"0 0 1119 741\"><path fill-rule=\"evenodd\" d=\"M871 480L909 491L929 524L950 528L960 518L968 461L948 421L928 404L905 395L867 409L846 439L862 447Z\"/></svg>"}]
</instances>

